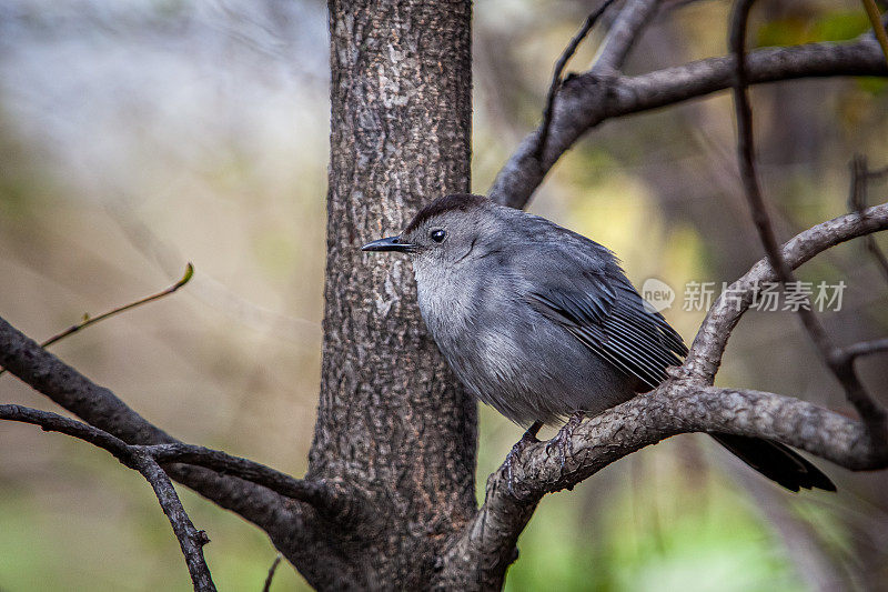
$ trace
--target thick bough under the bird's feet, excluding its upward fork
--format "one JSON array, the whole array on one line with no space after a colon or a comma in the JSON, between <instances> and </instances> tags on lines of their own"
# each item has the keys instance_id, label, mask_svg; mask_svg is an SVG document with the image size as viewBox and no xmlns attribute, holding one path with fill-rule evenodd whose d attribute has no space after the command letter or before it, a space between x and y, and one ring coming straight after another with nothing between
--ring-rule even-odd
<instances>
[{"instance_id":1,"label":"thick bough under the bird's feet, excluding its upward fork","mask_svg":"<svg viewBox=\"0 0 888 592\"><path fill-rule=\"evenodd\" d=\"M648 395L584 421L573 431L564 464L545 442L527 448L513 460L517 496L509 493L505 465L492 474L484 505L445 556L442 582L497 585L498 570L514 558L514 543L543 495L569 489L642 448L687 432L776 440L855 471L888 466L888 456L871 445L864 424L838 413L774 393L667 381ZM481 575L485 579L478 581Z\"/></svg>"}]
</instances>

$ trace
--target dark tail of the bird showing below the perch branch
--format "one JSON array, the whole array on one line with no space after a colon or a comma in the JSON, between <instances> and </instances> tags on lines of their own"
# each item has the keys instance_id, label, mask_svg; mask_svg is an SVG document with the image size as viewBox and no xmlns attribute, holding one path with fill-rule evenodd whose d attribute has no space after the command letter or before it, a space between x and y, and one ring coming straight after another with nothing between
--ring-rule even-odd
<instances>
[{"instance_id":1,"label":"dark tail of the bird showing below the perch branch","mask_svg":"<svg viewBox=\"0 0 888 592\"><path fill-rule=\"evenodd\" d=\"M725 433L709 435L746 464L789 491L798 491L799 488L836 491L836 485L828 476L789 446L745 435Z\"/></svg>"}]
</instances>

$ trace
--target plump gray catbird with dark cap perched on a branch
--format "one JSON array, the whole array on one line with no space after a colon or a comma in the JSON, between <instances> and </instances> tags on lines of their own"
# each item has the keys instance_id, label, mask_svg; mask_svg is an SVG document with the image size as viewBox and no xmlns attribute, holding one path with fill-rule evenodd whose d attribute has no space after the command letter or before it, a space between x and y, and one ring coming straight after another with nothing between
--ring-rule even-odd
<instances>
[{"instance_id":1,"label":"plump gray catbird with dark cap perched on a branch","mask_svg":"<svg viewBox=\"0 0 888 592\"><path fill-rule=\"evenodd\" d=\"M609 250L480 195L440 198L363 250L412 255L428 331L472 393L529 427L523 442L649 391L687 354ZM836 489L780 443L713 435L789 490Z\"/></svg>"}]
</instances>

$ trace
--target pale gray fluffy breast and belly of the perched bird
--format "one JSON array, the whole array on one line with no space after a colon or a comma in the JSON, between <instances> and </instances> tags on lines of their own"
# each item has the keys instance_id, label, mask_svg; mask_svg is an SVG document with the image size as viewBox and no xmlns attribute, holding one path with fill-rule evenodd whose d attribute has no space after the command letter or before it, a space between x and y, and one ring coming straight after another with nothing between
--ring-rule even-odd
<instances>
[{"instance_id":1,"label":"pale gray fluffy breast and belly of the perched bird","mask_svg":"<svg viewBox=\"0 0 888 592\"><path fill-rule=\"evenodd\" d=\"M509 265L416 264L420 311L463 384L512 421L553 423L632 397L625 378L534 310Z\"/></svg>"}]
</instances>

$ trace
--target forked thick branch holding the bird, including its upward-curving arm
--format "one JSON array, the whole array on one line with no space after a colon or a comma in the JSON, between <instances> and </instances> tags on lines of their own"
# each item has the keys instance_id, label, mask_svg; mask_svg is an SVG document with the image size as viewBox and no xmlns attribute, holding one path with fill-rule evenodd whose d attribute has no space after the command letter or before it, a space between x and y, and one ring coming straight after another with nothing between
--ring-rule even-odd
<instances>
[{"instance_id":1,"label":"forked thick branch holding the bird, including its upward-curving arm","mask_svg":"<svg viewBox=\"0 0 888 592\"><path fill-rule=\"evenodd\" d=\"M799 233L781 250L796 268L821 251L888 228L888 203L850 213ZM487 496L473 521L452 541L441 572L444 586L494 588L514 561L515 541L543 495L576 483L644 446L686 432L722 432L776 440L851 470L888 466L888 453L874 444L866 427L797 399L758 391L710 387L740 315L757 287L774 281L767 260L734 282L709 310L682 369L653 393L636 397L573 430L562 459L535 444L487 481ZM728 298L726 294L730 294ZM849 348L854 354L881 351L882 340ZM509 478L513 486L509 493Z\"/></svg>"}]
</instances>

